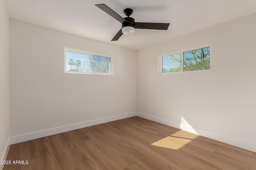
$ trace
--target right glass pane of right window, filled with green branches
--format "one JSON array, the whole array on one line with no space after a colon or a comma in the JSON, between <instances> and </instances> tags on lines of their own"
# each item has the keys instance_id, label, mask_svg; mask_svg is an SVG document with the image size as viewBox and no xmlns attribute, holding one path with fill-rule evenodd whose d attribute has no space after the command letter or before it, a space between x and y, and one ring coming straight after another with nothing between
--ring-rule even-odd
<instances>
[{"instance_id":1,"label":"right glass pane of right window, filled with green branches","mask_svg":"<svg viewBox=\"0 0 256 170\"><path fill-rule=\"evenodd\" d=\"M210 47L186 51L183 58L184 71L210 69Z\"/></svg>"}]
</instances>

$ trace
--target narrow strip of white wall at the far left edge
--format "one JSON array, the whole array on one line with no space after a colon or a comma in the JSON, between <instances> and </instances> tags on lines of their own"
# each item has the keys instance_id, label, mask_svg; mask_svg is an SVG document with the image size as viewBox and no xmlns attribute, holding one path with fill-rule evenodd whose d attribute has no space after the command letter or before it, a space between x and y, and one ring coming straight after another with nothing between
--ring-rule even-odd
<instances>
[{"instance_id":1,"label":"narrow strip of white wall at the far left edge","mask_svg":"<svg viewBox=\"0 0 256 170\"><path fill-rule=\"evenodd\" d=\"M10 138L9 91L9 18L4 1L0 0L0 160L4 158Z\"/></svg>"}]
</instances>

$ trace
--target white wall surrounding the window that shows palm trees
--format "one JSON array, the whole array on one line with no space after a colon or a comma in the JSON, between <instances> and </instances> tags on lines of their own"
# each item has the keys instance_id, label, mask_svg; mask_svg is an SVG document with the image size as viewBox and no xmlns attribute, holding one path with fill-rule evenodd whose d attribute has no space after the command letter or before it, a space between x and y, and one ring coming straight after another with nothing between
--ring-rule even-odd
<instances>
[{"instance_id":1,"label":"white wall surrounding the window that shows palm trees","mask_svg":"<svg viewBox=\"0 0 256 170\"><path fill-rule=\"evenodd\" d=\"M114 75L64 73L64 47L111 55ZM12 137L135 111L135 50L10 20Z\"/></svg>"}]
</instances>

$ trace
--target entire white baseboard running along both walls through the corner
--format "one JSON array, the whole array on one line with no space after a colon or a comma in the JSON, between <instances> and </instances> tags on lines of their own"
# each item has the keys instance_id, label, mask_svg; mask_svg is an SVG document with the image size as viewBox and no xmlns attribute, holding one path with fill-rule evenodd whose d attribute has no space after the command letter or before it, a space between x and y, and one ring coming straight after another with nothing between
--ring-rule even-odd
<instances>
[{"instance_id":1,"label":"entire white baseboard running along both walls through the corner","mask_svg":"<svg viewBox=\"0 0 256 170\"><path fill-rule=\"evenodd\" d=\"M227 143L229 145L240 147L242 149L251 150L253 152L256 152L256 144L255 143L250 143L248 141L243 141L241 139L236 139L233 137L216 134L216 133L205 131L203 129L198 129L198 128L195 128L195 127L192 127L189 125L179 124L179 123L172 122L172 121L169 121L166 119L162 119L159 117L154 117L151 115L146 115L146 114L138 113L138 112L116 115L116 116L112 116L112 117L105 117L102 119L95 119L95 120L91 120L91 121L85 121L85 122L76 123L76 124L72 124L72 125L66 125L66 126L62 126L62 127L56 127L56 128L52 128L52 129L46 129L43 131L36 131L36 132L32 132L32 133L27 133L27 134L23 134L23 135L10 137L10 145L15 144L15 143L24 142L24 141L29 141L32 139L37 139L40 137L46 137L46 136L55 135L58 133L72 131L72 130L80 129L83 127L89 127L89 126L98 125L101 123L106 123L106 122L115 121L115 120L119 120L119 119L125 119L125 118L133 117L133 116L142 117L144 119L155 121L155 122L158 122L158 123L161 123L164 125L168 125L171 127L175 127L177 129L181 129L184 131L188 131L188 132L191 132L191 133L203 136L203 137L214 139L216 141Z\"/></svg>"}]
</instances>

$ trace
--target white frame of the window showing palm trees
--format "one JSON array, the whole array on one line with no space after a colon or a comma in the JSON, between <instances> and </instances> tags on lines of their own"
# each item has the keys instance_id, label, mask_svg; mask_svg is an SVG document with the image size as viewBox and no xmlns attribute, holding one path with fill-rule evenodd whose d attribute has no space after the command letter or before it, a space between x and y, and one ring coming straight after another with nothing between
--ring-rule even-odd
<instances>
[{"instance_id":1,"label":"white frame of the window showing palm trees","mask_svg":"<svg viewBox=\"0 0 256 170\"><path fill-rule=\"evenodd\" d=\"M74 52L74 53L82 53L89 55L89 72L77 72L77 71L67 71L66 70L66 51ZM108 57L110 58L110 73L104 73L104 72L93 72L92 71L92 55L100 56L100 57ZM64 47L64 73L75 73L75 74L98 74L98 75L113 75L113 57L110 55L100 54L100 53L94 53L91 51L85 51L80 49L73 49L69 47Z\"/></svg>"}]
</instances>

